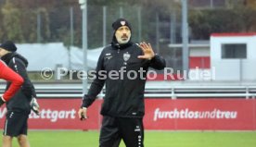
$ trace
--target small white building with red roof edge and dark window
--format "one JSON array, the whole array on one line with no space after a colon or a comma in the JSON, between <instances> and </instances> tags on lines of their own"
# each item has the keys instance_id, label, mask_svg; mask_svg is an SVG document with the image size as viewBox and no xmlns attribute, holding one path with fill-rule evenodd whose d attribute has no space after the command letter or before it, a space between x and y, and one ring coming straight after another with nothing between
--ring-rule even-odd
<instances>
[{"instance_id":1,"label":"small white building with red roof edge and dark window","mask_svg":"<svg viewBox=\"0 0 256 147\"><path fill-rule=\"evenodd\" d=\"M211 34L215 80L256 80L256 33Z\"/></svg>"}]
</instances>

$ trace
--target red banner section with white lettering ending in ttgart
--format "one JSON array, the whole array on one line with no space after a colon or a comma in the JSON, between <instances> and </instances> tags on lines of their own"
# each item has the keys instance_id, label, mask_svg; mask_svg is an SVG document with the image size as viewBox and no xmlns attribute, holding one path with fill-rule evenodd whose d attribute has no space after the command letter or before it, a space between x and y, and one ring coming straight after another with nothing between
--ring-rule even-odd
<instances>
[{"instance_id":1,"label":"red banner section with white lettering ending in ttgart","mask_svg":"<svg viewBox=\"0 0 256 147\"><path fill-rule=\"evenodd\" d=\"M78 109L82 103L80 99L38 99L41 113L36 116L33 112L29 119L29 129L99 129L101 116L99 115L101 101L96 101L88 109L88 119L81 121ZM0 125L5 123L6 107L0 108Z\"/></svg>"}]
</instances>

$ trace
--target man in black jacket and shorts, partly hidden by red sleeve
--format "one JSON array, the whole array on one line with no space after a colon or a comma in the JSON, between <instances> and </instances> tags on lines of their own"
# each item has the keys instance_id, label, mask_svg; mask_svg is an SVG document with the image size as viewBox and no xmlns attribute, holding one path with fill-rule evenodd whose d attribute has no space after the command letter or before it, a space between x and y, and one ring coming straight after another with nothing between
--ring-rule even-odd
<instances>
[{"instance_id":1,"label":"man in black jacket and shorts, partly hidden by red sleeve","mask_svg":"<svg viewBox=\"0 0 256 147\"><path fill-rule=\"evenodd\" d=\"M16 71L24 80L21 89L10 101L6 102L7 113L3 136L3 147L11 147L13 137L17 137L20 147L30 147L27 139L28 118L31 109L38 114L39 105L36 103L36 93L28 77L26 67L28 60L16 53L17 47L11 41L0 45L1 59L8 67ZM10 83L7 83L6 88Z\"/></svg>"}]
</instances>

